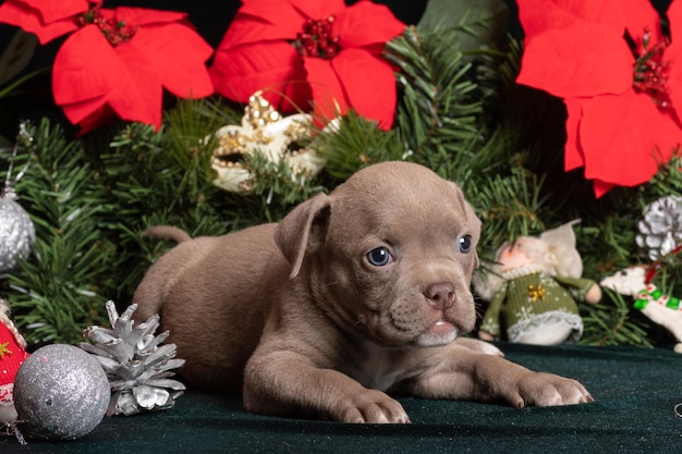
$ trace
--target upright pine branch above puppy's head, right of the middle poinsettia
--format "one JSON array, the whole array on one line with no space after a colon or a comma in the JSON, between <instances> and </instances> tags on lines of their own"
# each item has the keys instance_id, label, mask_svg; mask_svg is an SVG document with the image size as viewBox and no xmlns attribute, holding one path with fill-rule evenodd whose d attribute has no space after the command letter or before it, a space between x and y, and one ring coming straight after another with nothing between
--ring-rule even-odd
<instances>
[{"instance_id":1,"label":"upright pine branch above puppy's head, right of the middle poinsettia","mask_svg":"<svg viewBox=\"0 0 682 454\"><path fill-rule=\"evenodd\" d=\"M413 160L456 180L458 161L480 140L483 103L471 79L472 63L452 29L419 35L409 27L389 41L386 57L400 69L402 94L395 126Z\"/></svg>"}]
</instances>

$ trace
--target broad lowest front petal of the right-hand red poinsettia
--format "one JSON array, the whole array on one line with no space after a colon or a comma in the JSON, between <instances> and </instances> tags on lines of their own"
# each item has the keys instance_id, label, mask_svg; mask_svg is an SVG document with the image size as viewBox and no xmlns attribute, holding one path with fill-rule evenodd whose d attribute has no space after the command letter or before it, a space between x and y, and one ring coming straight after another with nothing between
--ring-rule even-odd
<instances>
[{"instance_id":1,"label":"broad lowest front petal of the right-hand red poinsettia","mask_svg":"<svg viewBox=\"0 0 682 454\"><path fill-rule=\"evenodd\" d=\"M619 186L645 183L681 138L680 128L647 95L630 90L583 102L580 140L586 179Z\"/></svg>"}]
</instances>

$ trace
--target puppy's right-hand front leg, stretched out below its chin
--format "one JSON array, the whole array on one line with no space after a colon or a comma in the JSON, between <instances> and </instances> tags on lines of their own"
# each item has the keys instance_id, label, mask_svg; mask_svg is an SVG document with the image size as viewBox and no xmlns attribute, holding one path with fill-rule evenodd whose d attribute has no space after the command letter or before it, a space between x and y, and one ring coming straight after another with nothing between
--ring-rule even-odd
<instances>
[{"instance_id":1,"label":"puppy's right-hand front leg, stretched out below its chin","mask_svg":"<svg viewBox=\"0 0 682 454\"><path fill-rule=\"evenodd\" d=\"M504 402L525 406L571 405L593 402L575 380L534 372L500 356L452 346L435 355L434 367L412 382L411 392L430 398Z\"/></svg>"}]
</instances>

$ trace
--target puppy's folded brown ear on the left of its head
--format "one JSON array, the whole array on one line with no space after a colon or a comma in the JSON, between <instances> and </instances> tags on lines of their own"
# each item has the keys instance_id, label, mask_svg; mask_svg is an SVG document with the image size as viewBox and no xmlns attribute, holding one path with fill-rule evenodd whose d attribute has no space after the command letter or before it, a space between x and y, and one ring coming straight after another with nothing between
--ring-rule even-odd
<instances>
[{"instance_id":1,"label":"puppy's folded brown ear on the left of its head","mask_svg":"<svg viewBox=\"0 0 682 454\"><path fill-rule=\"evenodd\" d=\"M299 274L305 254L325 241L329 201L329 196L318 194L294 208L277 226L275 242L291 263L291 278Z\"/></svg>"}]
</instances>

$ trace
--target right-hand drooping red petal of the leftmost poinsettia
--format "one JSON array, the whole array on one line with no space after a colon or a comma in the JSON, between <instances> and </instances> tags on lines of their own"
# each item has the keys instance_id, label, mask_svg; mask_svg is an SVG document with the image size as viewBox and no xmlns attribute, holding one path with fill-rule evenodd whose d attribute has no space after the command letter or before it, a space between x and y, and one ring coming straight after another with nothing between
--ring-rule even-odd
<instances>
[{"instance_id":1,"label":"right-hand drooping red petal of the leftmost poinsettia","mask_svg":"<svg viewBox=\"0 0 682 454\"><path fill-rule=\"evenodd\" d=\"M147 57L173 95L203 98L212 94L205 66L212 48L191 27L180 23L141 27L129 44Z\"/></svg>"}]
</instances>

